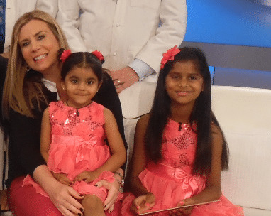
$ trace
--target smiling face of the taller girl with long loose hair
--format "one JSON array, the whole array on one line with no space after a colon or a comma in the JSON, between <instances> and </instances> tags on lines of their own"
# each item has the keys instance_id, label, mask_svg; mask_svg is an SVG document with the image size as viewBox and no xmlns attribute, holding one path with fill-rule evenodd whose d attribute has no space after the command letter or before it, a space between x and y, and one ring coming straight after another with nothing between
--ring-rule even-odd
<instances>
[{"instance_id":1,"label":"smiling face of the taller girl with long loose hair","mask_svg":"<svg viewBox=\"0 0 271 216\"><path fill-rule=\"evenodd\" d=\"M194 103L204 90L204 80L194 60L176 62L165 78L165 89L174 104Z\"/></svg>"}]
</instances>

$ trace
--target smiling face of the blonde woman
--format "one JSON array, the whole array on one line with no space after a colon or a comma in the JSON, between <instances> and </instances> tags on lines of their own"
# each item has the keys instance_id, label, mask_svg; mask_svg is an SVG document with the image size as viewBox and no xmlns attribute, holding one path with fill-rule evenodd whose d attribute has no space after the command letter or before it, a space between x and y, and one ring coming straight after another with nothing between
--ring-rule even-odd
<instances>
[{"instance_id":1,"label":"smiling face of the blonde woman","mask_svg":"<svg viewBox=\"0 0 271 216\"><path fill-rule=\"evenodd\" d=\"M44 21L34 19L26 23L21 28L18 44L28 66L45 78L59 70L60 43Z\"/></svg>"}]
</instances>

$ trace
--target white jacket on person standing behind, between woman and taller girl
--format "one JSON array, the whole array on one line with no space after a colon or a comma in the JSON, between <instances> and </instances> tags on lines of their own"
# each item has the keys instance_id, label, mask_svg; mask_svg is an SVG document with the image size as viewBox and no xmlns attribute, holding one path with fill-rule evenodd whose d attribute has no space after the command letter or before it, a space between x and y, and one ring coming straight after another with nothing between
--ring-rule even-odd
<instances>
[{"instance_id":1,"label":"white jacket on person standing behind, between woman and taller girl","mask_svg":"<svg viewBox=\"0 0 271 216\"><path fill-rule=\"evenodd\" d=\"M185 0L58 0L58 4L57 22L72 51L100 50L109 70L125 68L138 58L158 72L162 53L180 45L186 31Z\"/></svg>"}]
</instances>

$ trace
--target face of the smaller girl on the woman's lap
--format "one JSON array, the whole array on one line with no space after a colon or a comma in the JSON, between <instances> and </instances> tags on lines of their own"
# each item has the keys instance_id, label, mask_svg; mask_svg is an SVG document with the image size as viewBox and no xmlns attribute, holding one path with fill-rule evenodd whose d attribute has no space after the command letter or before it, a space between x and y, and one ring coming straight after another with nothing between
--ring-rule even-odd
<instances>
[{"instance_id":1,"label":"face of the smaller girl on the woman's lap","mask_svg":"<svg viewBox=\"0 0 271 216\"><path fill-rule=\"evenodd\" d=\"M74 108L85 107L92 102L101 82L92 68L72 68L61 82L68 96L68 104Z\"/></svg>"}]
</instances>

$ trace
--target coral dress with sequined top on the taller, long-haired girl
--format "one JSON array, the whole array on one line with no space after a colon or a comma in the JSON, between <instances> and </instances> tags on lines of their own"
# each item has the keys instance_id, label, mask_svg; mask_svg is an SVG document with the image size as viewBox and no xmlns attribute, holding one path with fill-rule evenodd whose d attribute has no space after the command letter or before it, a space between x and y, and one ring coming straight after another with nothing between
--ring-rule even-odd
<instances>
[{"instance_id":1,"label":"coral dress with sequined top on the taller, long-haired girl","mask_svg":"<svg viewBox=\"0 0 271 216\"><path fill-rule=\"evenodd\" d=\"M193 124L193 127L196 124ZM205 177L192 175L192 164L197 145L197 134L190 124L182 124L170 119L162 139L162 160L149 162L140 173L141 183L155 195L155 205L149 210L163 210L176 207L186 198L197 195L205 188ZM130 207L135 198L131 193L124 195L121 215L133 215ZM243 215L241 207L233 205L223 195L221 201L194 207L192 216L202 215ZM167 215L166 212L155 215Z\"/></svg>"}]
</instances>

